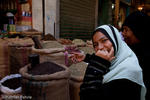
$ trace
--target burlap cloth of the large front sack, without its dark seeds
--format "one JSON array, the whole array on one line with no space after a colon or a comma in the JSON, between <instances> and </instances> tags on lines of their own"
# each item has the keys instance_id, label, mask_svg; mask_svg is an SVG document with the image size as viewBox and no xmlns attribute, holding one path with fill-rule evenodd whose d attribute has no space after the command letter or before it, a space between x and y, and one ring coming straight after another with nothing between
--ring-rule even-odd
<instances>
[{"instance_id":1,"label":"burlap cloth of the large front sack, without its dark seeds","mask_svg":"<svg viewBox=\"0 0 150 100\"><path fill-rule=\"evenodd\" d=\"M31 96L32 100L70 100L68 68L60 65L65 70L50 75L31 75L27 73L29 66L20 69L23 95Z\"/></svg>"}]
</instances>

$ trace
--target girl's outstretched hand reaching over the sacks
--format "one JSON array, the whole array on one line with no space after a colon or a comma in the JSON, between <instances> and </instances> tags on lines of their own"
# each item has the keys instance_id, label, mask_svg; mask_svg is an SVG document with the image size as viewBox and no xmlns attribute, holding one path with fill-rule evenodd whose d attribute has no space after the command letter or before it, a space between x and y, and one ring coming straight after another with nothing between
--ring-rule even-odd
<instances>
[{"instance_id":1,"label":"girl's outstretched hand reaching over the sacks","mask_svg":"<svg viewBox=\"0 0 150 100\"><path fill-rule=\"evenodd\" d=\"M78 52L72 52L71 56L69 58L72 60L73 63L76 64L76 63L79 63L84 60L85 54L78 53Z\"/></svg>"}]
</instances>

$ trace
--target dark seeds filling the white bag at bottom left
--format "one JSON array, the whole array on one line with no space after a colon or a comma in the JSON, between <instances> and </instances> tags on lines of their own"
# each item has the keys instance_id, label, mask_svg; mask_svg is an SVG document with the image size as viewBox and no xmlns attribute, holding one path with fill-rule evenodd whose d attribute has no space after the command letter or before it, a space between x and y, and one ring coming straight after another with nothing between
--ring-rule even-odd
<instances>
[{"instance_id":1,"label":"dark seeds filling the white bag at bottom left","mask_svg":"<svg viewBox=\"0 0 150 100\"><path fill-rule=\"evenodd\" d=\"M21 77L8 79L4 81L2 85L8 87L9 89L17 89L21 87Z\"/></svg>"}]
</instances>

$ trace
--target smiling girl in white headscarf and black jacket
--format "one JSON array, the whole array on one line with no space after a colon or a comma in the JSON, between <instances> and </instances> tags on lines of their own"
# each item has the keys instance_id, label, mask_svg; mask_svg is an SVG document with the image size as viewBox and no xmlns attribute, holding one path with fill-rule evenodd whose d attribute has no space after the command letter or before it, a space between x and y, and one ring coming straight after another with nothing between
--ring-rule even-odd
<instances>
[{"instance_id":1,"label":"smiling girl in white headscarf and black jacket","mask_svg":"<svg viewBox=\"0 0 150 100\"><path fill-rule=\"evenodd\" d=\"M92 35L95 54L73 53L74 63L88 63L80 100L145 100L142 69L118 30L102 25Z\"/></svg>"}]
</instances>

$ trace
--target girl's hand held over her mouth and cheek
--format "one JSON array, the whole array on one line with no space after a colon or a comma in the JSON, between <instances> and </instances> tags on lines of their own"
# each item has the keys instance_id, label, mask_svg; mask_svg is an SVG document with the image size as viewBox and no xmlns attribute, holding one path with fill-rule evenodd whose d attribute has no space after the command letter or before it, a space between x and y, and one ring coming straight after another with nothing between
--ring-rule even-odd
<instances>
[{"instance_id":1,"label":"girl's hand held over her mouth and cheek","mask_svg":"<svg viewBox=\"0 0 150 100\"><path fill-rule=\"evenodd\" d=\"M115 58L114 48L112 47L109 52L107 50L98 50L95 55L100 56L108 61L112 61Z\"/></svg>"}]
</instances>

